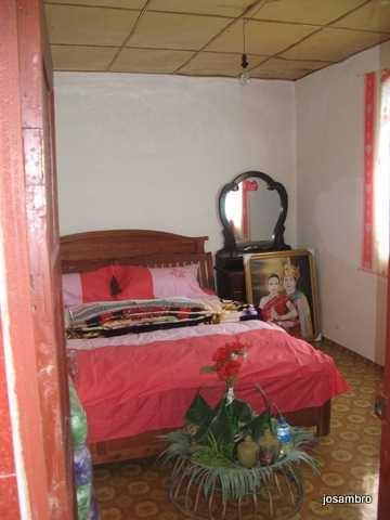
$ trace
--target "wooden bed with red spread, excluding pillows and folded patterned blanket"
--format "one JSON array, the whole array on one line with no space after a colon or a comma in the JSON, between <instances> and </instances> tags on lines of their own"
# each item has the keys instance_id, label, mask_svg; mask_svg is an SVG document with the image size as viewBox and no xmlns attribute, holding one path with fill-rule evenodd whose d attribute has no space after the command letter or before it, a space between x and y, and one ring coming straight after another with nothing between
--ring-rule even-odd
<instances>
[{"instance_id":1,"label":"wooden bed with red spread, excluding pillows and folded patterned blanket","mask_svg":"<svg viewBox=\"0 0 390 520\"><path fill-rule=\"evenodd\" d=\"M67 235L61 239L62 270L69 275L88 274L108 265L158 270L195 264L199 286L209 292L214 286L206 240L206 236L144 230ZM115 298L118 290L114 276L109 294ZM262 399L253 390L253 382L262 374L257 372L258 365L265 364L268 376L257 382L277 402L288 420L297 426L313 426L318 435L327 434L330 399L347 390L346 381L330 358L262 323L200 324L106 339L69 339L67 349L78 370L76 388L87 412L94 464L161 452L160 435L181 426L183 412L199 389L210 404L216 404L223 392L222 382L212 375L200 374L199 367L210 362L214 349L229 340L226 334L252 348L243 380L236 385L237 396L255 410L261 408ZM233 332L227 332L230 327ZM190 341L187 335L196 337ZM139 339L135 341L134 337ZM288 364L280 358L283 349L288 352ZM277 359L282 361L276 363Z\"/></svg>"}]
</instances>

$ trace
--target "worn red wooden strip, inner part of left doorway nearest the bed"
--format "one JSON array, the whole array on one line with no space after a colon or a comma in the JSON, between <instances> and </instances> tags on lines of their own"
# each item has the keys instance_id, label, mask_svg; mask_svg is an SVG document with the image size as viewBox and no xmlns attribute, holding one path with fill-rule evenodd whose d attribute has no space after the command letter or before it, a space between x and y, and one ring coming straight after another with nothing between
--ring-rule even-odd
<instances>
[{"instance_id":1,"label":"worn red wooden strip, inner part of left doorway nearest the bed","mask_svg":"<svg viewBox=\"0 0 390 520\"><path fill-rule=\"evenodd\" d=\"M25 204L30 278L34 281L31 308L35 310L36 368L48 479L47 500L50 518L68 519L76 511L60 291L56 172L52 134L53 82L42 26L42 9L39 0L18 0Z\"/></svg>"}]
</instances>

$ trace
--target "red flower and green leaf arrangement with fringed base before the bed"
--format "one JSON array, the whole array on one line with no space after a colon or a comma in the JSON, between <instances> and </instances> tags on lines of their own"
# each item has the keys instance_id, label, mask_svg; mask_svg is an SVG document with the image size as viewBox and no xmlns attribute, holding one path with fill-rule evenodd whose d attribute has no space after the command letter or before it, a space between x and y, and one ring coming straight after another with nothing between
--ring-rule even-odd
<instances>
[{"instance_id":1,"label":"red flower and green leaf arrangement with fringed base before the bed","mask_svg":"<svg viewBox=\"0 0 390 520\"><path fill-rule=\"evenodd\" d=\"M303 463L316 470L315 460L303 450L312 440L311 433L299 428L291 429L288 450L287 444L284 448L280 444L278 420L272 417L272 405L260 385L255 385L255 388L265 405L261 414L253 412L246 402L235 399L233 387L247 352L247 347L239 341L217 349L212 355L213 364L203 367L200 372L216 373L226 384L222 399L216 407L211 407L197 393L185 414L186 427L165 435L169 445L162 454L164 459L174 461L170 489L172 502L177 504L179 493L185 490L180 504L184 503L188 508L188 497L194 489L197 498L193 512L196 512L200 490L208 511L211 511L217 495L220 495L225 510L230 499L238 499L240 504L244 497L262 496L261 493L269 490L270 485L280 490L281 479L285 480L297 511L303 494L299 466ZM287 424L283 426L289 429ZM182 485L184 481L186 483ZM295 491L291 484L296 486ZM272 495L269 491L268 496L272 516ZM183 510L181 506L178 507Z\"/></svg>"}]
</instances>

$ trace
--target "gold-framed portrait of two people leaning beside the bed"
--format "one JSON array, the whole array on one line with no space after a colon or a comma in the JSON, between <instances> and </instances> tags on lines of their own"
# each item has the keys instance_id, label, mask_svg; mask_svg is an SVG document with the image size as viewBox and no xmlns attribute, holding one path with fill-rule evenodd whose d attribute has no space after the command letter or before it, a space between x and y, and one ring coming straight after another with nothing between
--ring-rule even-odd
<instances>
[{"instance_id":1,"label":"gold-framed portrait of two people leaning beside the bed","mask_svg":"<svg viewBox=\"0 0 390 520\"><path fill-rule=\"evenodd\" d=\"M314 257L308 249L245 257L247 299L264 322L292 336L313 340L320 334Z\"/></svg>"}]
</instances>

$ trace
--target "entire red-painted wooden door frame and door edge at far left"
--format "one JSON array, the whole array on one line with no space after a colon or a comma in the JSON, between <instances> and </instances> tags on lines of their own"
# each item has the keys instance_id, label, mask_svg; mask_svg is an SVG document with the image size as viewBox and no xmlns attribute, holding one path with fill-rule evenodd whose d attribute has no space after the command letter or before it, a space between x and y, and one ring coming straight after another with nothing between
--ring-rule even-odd
<instances>
[{"instance_id":1,"label":"entire red-painted wooden door frame and door edge at far left","mask_svg":"<svg viewBox=\"0 0 390 520\"><path fill-rule=\"evenodd\" d=\"M50 142L40 16L39 0L0 2L0 312L23 518L72 520L68 424L58 395L66 375L55 352L62 328L51 317L60 312L57 306L52 314L58 248L44 155Z\"/></svg>"}]
</instances>

